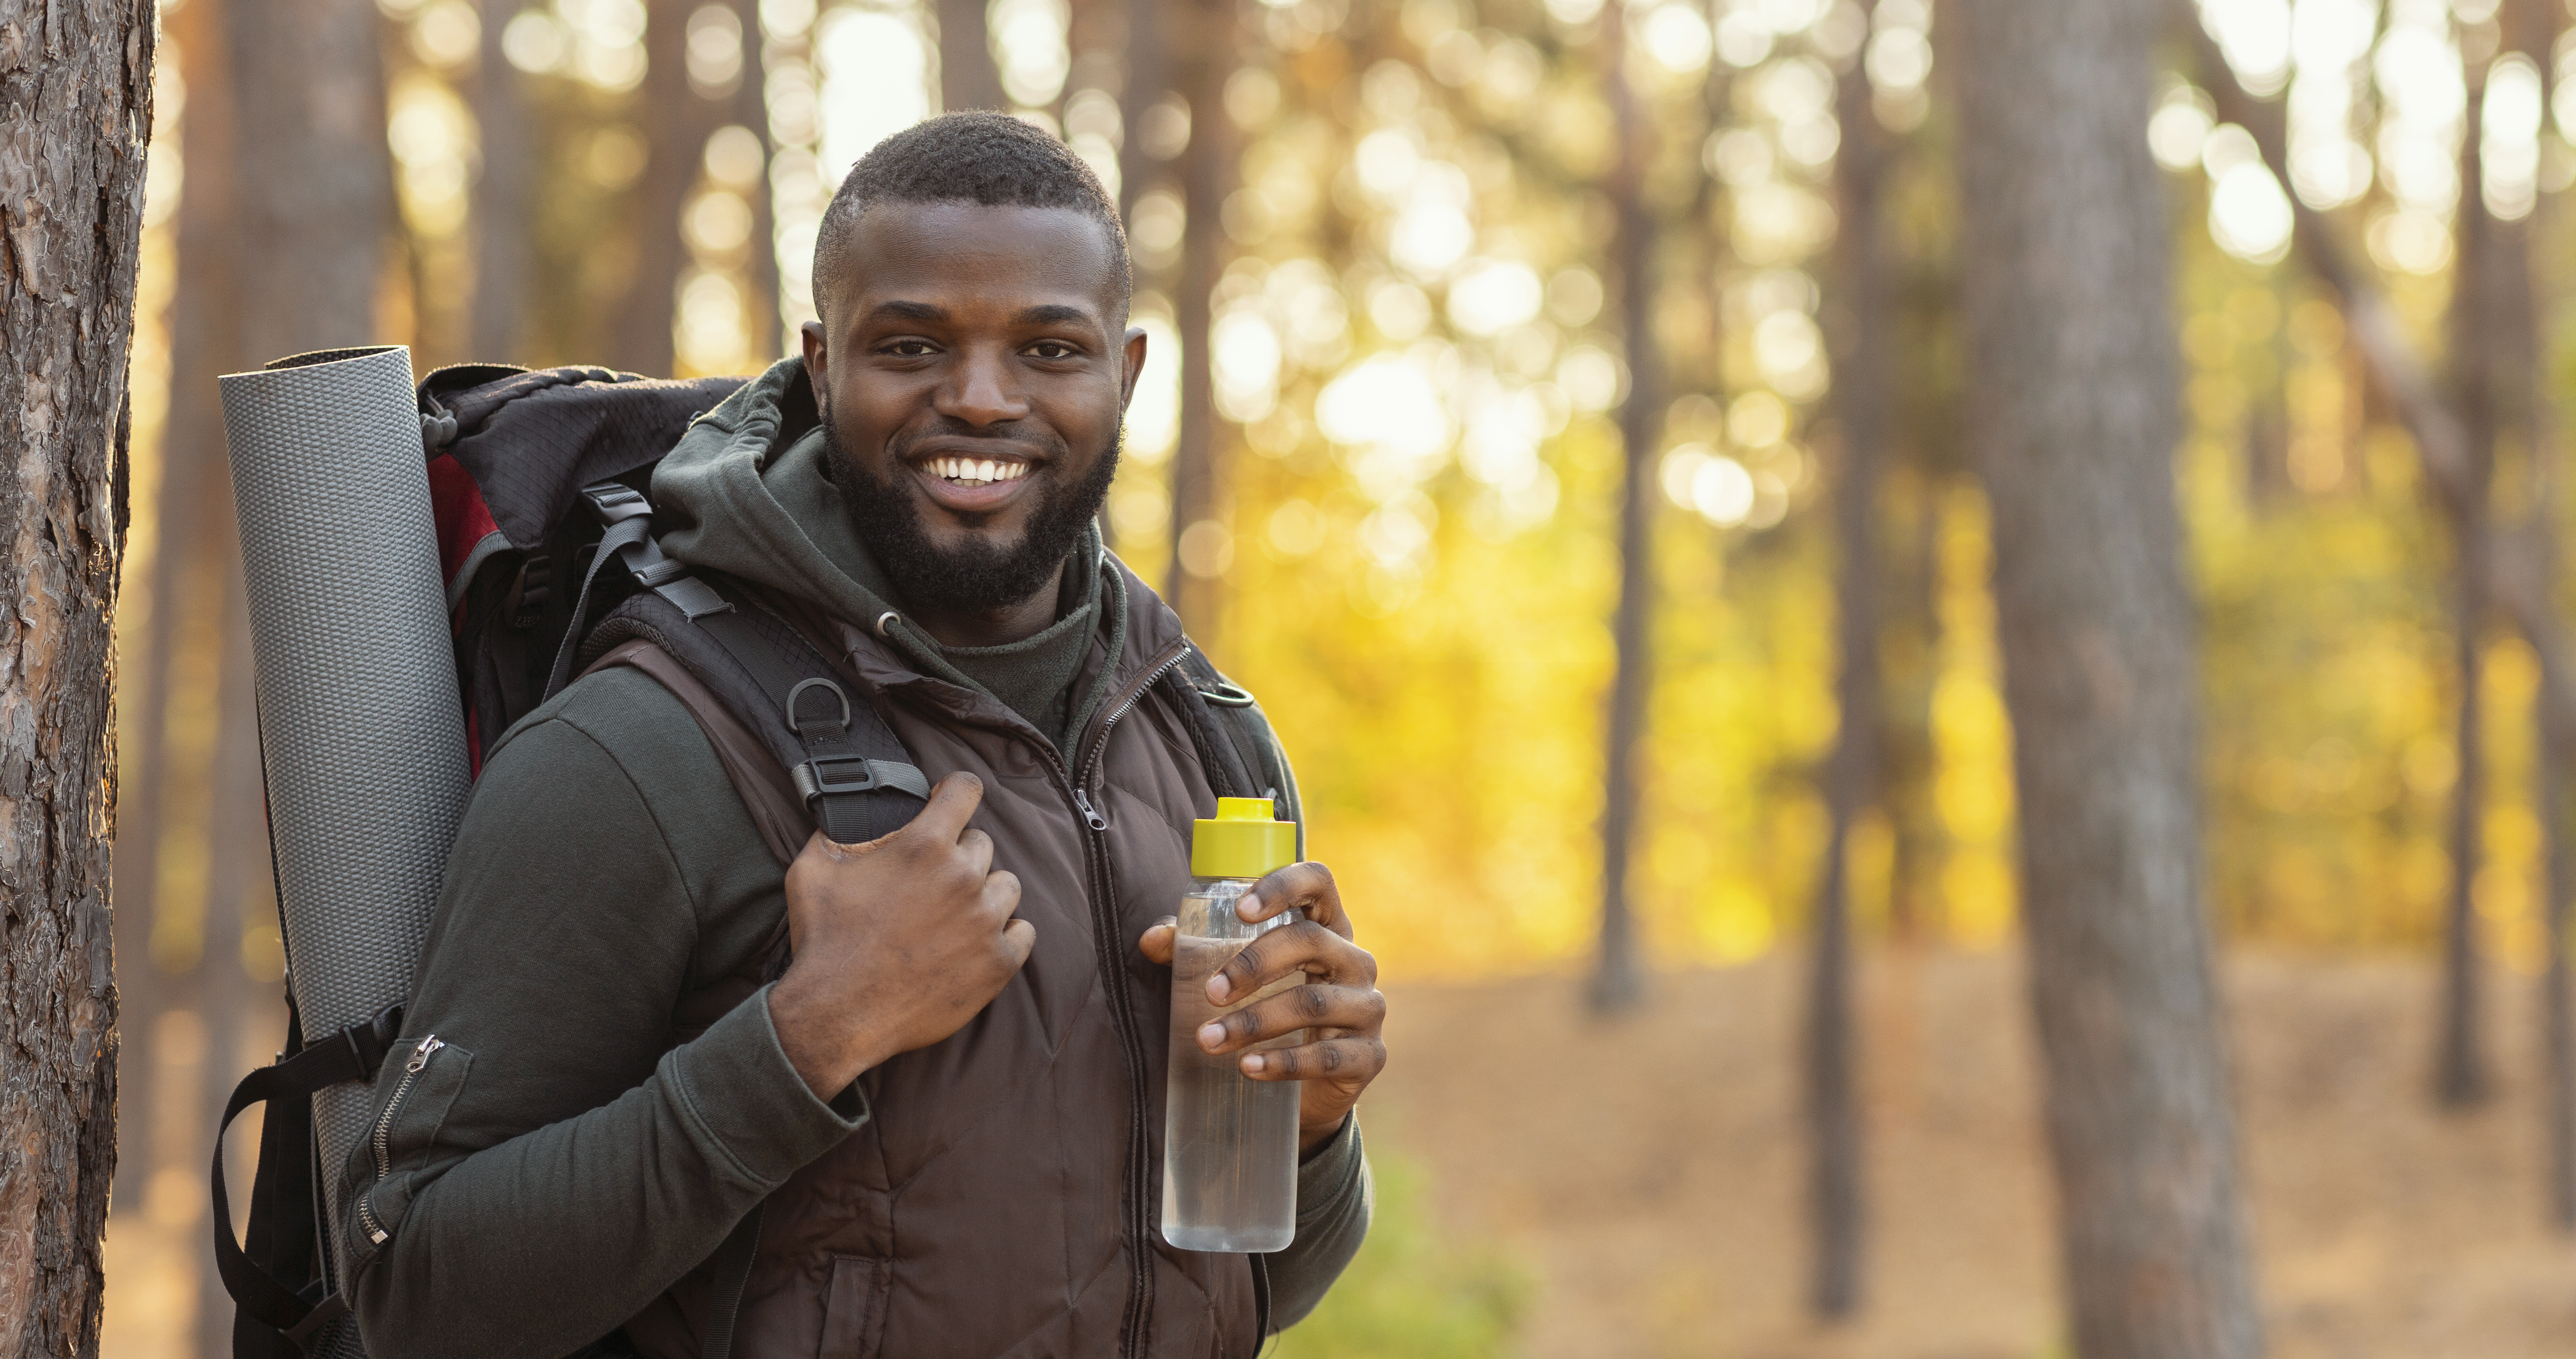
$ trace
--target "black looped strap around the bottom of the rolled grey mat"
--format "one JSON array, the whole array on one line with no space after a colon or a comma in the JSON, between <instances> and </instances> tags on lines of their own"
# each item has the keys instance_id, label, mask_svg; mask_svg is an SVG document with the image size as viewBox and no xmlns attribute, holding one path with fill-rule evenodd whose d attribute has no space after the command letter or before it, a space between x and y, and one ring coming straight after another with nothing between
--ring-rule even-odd
<instances>
[{"instance_id":1,"label":"black looped strap around the bottom of the rolled grey mat","mask_svg":"<svg viewBox=\"0 0 2576 1359\"><path fill-rule=\"evenodd\" d=\"M224 1194L224 1129L232 1127L245 1109L252 1104L276 1104L260 1132L260 1184L252 1186L252 1230L250 1243L263 1256L270 1248L283 1246L281 1235L309 1233L312 1222L263 1222L263 1215L304 1204L296 1217L309 1217L312 1194L286 1194L281 1184L270 1184L273 1176L312 1176L312 1132L309 1114L304 1119L289 1111L307 1111L317 1091L337 1086L343 1080L371 1080L376 1068L384 1065L384 1055L394 1047L402 1034L402 1006L386 1006L366 1024L350 1024L322 1042L304 1044L294 1055L265 1065L242 1078L232 1088L232 1099L224 1101L224 1119L214 1127L214 1269L224 1279L224 1292L242 1320L255 1320L276 1333L281 1333L299 1354L307 1341L312 1341L325 1325L348 1315L348 1302L335 1292L322 1295L322 1279L304 1287L289 1287L276 1274L270 1274L263 1261L250 1258L242 1243L232 1235L232 1199ZM283 1114L283 1117L281 1117ZM291 1142L291 1145L289 1145ZM270 1258L268 1264L276 1264ZM255 1336L240 1320L234 1323L234 1351L242 1354L245 1346L258 1346ZM255 1351L255 1349L252 1349Z\"/></svg>"}]
</instances>

